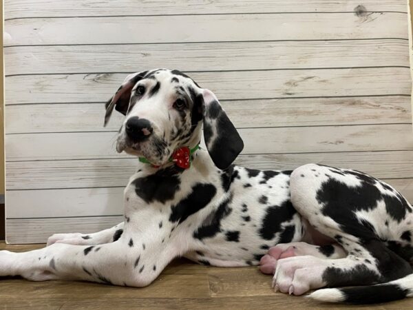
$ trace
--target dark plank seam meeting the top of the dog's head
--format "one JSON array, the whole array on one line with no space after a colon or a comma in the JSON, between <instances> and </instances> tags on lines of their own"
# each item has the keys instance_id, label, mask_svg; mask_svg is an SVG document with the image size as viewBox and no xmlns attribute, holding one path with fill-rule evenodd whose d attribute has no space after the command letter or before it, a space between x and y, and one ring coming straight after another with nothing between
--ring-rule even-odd
<instances>
[{"instance_id":1,"label":"dark plank seam meeting the top of the dog's head","mask_svg":"<svg viewBox=\"0 0 413 310\"><path fill-rule=\"evenodd\" d=\"M377 68L406 68L410 69L409 65L370 65L359 67L317 67L317 68L268 68L268 69L239 69L239 70L185 70L187 73L220 73L220 72L262 72L262 71L298 71L298 70L344 70L344 69L377 69ZM130 71L113 71L113 72L45 72L45 73L19 73L6 74L9 76L39 76L39 75L93 75L93 74L131 74Z\"/></svg>"}]
</instances>

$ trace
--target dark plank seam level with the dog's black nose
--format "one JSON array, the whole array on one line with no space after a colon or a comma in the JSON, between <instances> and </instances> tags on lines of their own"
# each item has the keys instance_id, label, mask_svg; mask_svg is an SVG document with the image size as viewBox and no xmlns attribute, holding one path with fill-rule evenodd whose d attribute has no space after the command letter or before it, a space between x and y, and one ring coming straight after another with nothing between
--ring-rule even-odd
<instances>
[{"instance_id":1,"label":"dark plank seam level with the dog's black nose","mask_svg":"<svg viewBox=\"0 0 413 310\"><path fill-rule=\"evenodd\" d=\"M268 127L236 127L237 130L246 129L271 129L271 128L303 128L303 127L350 127L350 126L379 126L379 125L412 125L412 122L401 123L352 123L352 124L337 124L337 125L291 125L291 126L268 126ZM103 132L118 132L118 130L91 130L78 132L12 132L6 136L13 136L15 134L89 134L89 133L103 133Z\"/></svg>"}]
</instances>

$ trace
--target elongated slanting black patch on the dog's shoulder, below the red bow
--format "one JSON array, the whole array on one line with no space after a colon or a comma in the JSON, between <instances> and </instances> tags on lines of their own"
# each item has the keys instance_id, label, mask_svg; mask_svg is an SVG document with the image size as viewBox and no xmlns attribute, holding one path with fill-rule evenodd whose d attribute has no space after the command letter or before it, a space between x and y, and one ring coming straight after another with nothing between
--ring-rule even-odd
<instances>
[{"instance_id":1,"label":"elongated slanting black patch on the dog's shoulder, below the red bow","mask_svg":"<svg viewBox=\"0 0 413 310\"><path fill-rule=\"evenodd\" d=\"M207 206L216 192L217 190L212 184L195 184L189 196L171 207L172 213L169 216L169 220L182 223L188 216Z\"/></svg>"}]
</instances>

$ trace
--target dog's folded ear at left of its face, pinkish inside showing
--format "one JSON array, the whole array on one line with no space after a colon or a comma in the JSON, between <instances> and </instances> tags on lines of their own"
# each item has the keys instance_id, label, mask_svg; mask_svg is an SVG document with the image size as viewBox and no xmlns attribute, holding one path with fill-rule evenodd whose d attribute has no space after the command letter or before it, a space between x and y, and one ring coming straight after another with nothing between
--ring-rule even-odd
<instances>
[{"instance_id":1,"label":"dog's folded ear at left of its face, pinkish inside showing","mask_svg":"<svg viewBox=\"0 0 413 310\"><path fill-rule=\"evenodd\" d=\"M105 123L103 126L107 125L110 116L114 108L116 111L126 115L127 108L129 107L129 100L131 99L131 91L134 85L142 79L143 76L147 74L147 71L136 72L134 74L129 74L126 79L123 81L122 85L118 88L114 96L105 103L106 114L105 114Z\"/></svg>"}]
</instances>

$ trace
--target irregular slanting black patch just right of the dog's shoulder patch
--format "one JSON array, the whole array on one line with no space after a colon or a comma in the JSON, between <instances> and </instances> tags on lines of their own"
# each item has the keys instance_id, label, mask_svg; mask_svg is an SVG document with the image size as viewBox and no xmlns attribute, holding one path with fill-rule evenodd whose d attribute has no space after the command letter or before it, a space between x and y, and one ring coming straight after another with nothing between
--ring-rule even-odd
<instances>
[{"instance_id":1,"label":"irregular slanting black patch just right of the dog's shoulder patch","mask_svg":"<svg viewBox=\"0 0 413 310\"><path fill-rule=\"evenodd\" d=\"M229 207L232 198L232 195L226 198L215 211L207 216L204 223L202 223L202 226L194 231L193 238L199 240L211 238L221 231L221 220L226 218L226 216L229 216L232 211L231 207Z\"/></svg>"}]
</instances>

